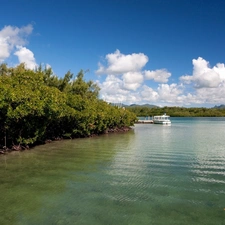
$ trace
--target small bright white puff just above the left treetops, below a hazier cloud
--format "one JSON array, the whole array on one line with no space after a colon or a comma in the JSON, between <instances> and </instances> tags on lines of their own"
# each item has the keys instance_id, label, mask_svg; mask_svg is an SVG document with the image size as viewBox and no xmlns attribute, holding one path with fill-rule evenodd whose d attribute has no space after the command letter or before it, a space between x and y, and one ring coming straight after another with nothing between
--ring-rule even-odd
<instances>
[{"instance_id":1,"label":"small bright white puff just above the left treetops, below a hazier cloud","mask_svg":"<svg viewBox=\"0 0 225 225\"><path fill-rule=\"evenodd\" d=\"M26 47L16 46L17 51L14 53L19 59L20 63L25 63L28 69L35 69L37 64L35 62L34 54Z\"/></svg>"}]
</instances>

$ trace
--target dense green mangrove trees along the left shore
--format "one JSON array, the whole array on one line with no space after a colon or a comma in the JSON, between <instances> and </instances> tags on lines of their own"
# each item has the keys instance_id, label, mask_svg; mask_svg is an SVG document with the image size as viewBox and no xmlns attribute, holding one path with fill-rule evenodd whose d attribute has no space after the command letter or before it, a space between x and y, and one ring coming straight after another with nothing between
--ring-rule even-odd
<instances>
[{"instance_id":1,"label":"dense green mangrove trees along the left shore","mask_svg":"<svg viewBox=\"0 0 225 225\"><path fill-rule=\"evenodd\" d=\"M87 137L129 127L136 115L98 98L99 87L80 71L63 78L0 65L0 146L28 147L57 138Z\"/></svg>"}]
</instances>

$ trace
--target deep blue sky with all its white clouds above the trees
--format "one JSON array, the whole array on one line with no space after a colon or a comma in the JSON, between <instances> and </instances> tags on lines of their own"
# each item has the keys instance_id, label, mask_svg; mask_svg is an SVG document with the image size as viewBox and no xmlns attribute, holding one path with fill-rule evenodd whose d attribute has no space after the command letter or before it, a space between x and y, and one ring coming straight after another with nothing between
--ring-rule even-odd
<instances>
[{"instance_id":1,"label":"deep blue sky with all its white clouds above the trees","mask_svg":"<svg viewBox=\"0 0 225 225\"><path fill-rule=\"evenodd\" d=\"M85 71L107 102L225 104L224 0L1 0L0 63Z\"/></svg>"}]
</instances>

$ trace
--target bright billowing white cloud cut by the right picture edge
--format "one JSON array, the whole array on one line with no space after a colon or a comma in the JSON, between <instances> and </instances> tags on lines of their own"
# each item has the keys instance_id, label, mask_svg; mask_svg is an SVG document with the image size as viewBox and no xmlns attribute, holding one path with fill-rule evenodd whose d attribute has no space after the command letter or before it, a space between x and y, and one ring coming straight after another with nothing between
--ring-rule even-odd
<instances>
[{"instance_id":1,"label":"bright billowing white cloud cut by the right picture edge","mask_svg":"<svg viewBox=\"0 0 225 225\"><path fill-rule=\"evenodd\" d=\"M210 68L209 62L199 57L192 60L193 74L181 76L180 80L186 84L193 83L195 88L217 88L225 81L224 64L217 64Z\"/></svg>"}]
</instances>

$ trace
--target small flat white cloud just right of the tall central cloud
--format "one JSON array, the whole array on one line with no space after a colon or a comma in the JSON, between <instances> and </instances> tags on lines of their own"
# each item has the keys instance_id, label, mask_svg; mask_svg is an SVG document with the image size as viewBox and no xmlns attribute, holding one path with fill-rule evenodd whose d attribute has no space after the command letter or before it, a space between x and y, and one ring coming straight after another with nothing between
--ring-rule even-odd
<instances>
[{"instance_id":1,"label":"small flat white cloud just right of the tall central cloud","mask_svg":"<svg viewBox=\"0 0 225 225\"><path fill-rule=\"evenodd\" d=\"M166 69L160 69L155 71L146 70L144 72L147 80L154 80L159 83L167 83L168 78L171 76L171 73Z\"/></svg>"}]
</instances>

